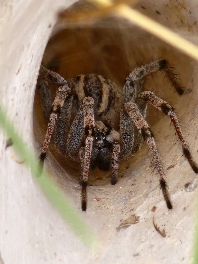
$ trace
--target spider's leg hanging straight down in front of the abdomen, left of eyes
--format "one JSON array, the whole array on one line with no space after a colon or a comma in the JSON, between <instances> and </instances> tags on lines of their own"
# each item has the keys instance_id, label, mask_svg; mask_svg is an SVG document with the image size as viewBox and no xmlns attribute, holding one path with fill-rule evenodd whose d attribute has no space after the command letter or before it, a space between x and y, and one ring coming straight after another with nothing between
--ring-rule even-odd
<instances>
[{"instance_id":1,"label":"spider's leg hanging straight down in front of the abdomen, left of eyes","mask_svg":"<svg viewBox=\"0 0 198 264\"><path fill-rule=\"evenodd\" d=\"M87 208L87 181L89 173L89 164L91 158L93 136L94 136L94 99L92 97L85 97L82 103L83 120L84 120L84 135L85 146L79 149L79 157L81 159L82 169L82 210Z\"/></svg>"}]
</instances>

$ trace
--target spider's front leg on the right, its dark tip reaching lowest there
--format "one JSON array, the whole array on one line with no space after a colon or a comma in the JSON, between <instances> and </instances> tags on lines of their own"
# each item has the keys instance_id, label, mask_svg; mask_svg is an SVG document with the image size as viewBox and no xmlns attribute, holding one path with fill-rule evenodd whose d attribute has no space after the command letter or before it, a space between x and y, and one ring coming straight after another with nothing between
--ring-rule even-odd
<instances>
[{"instance_id":1,"label":"spider's front leg on the right, its dark tip reaching lowest there","mask_svg":"<svg viewBox=\"0 0 198 264\"><path fill-rule=\"evenodd\" d=\"M165 181L165 174L163 172L163 168L159 159L159 155L157 152L157 148L155 145L155 141L153 138L153 133L150 130L147 122L144 120L143 116L141 115L138 106L133 103L133 102L127 102L124 104L123 108L122 108L122 114L128 118L131 119L136 128L138 129L139 133L142 135L142 137L147 140L148 146L150 148L150 151L153 155L153 161L155 164L155 168L157 169L157 173L159 176L159 183L163 192L163 196L164 196L164 200L166 201L166 205L168 207L168 209L172 209L172 204L171 204L171 200L169 197L169 193L167 190L167 185L166 185L166 181ZM126 133L127 134L127 133ZM121 135L122 138L125 137L125 135Z\"/></svg>"}]
</instances>

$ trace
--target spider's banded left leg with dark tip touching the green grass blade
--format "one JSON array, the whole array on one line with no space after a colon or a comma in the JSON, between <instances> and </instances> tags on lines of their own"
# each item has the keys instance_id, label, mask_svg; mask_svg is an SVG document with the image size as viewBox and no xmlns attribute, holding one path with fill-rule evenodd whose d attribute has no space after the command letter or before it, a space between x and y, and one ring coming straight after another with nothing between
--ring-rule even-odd
<instances>
[{"instance_id":1,"label":"spider's banded left leg with dark tip touching the green grass blade","mask_svg":"<svg viewBox=\"0 0 198 264\"><path fill-rule=\"evenodd\" d=\"M72 102L72 91L67 85L60 86L58 88L55 100L52 105L52 113L50 114L50 117L49 117L49 124L48 124L47 132L45 135L44 143L43 143L41 154L40 154L40 167L41 168L43 168L43 163L46 157L46 151L49 147L49 143L51 140L52 133L54 131L56 120L58 116L60 116L61 109L65 101Z\"/></svg>"}]
</instances>

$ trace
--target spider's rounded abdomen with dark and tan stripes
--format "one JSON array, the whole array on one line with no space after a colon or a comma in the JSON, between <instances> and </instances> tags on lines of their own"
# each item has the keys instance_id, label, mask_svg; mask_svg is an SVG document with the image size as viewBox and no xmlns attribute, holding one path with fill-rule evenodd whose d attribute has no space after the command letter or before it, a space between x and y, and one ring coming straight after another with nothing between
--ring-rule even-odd
<instances>
[{"instance_id":1,"label":"spider's rounded abdomen with dark and tan stripes","mask_svg":"<svg viewBox=\"0 0 198 264\"><path fill-rule=\"evenodd\" d=\"M94 99L95 120L105 121L119 129L120 109L123 104L119 88L109 79L97 74L81 74L68 81L73 93L71 122L85 97Z\"/></svg>"}]
</instances>

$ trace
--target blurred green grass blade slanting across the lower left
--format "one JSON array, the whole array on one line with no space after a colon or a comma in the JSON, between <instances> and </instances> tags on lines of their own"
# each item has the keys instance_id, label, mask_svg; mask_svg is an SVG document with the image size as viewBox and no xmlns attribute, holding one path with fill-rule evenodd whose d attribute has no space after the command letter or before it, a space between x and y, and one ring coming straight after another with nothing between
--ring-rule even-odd
<instances>
[{"instance_id":1,"label":"blurred green grass blade slanting across the lower left","mask_svg":"<svg viewBox=\"0 0 198 264\"><path fill-rule=\"evenodd\" d=\"M38 160L33 154L34 152L26 147L25 143L11 124L11 121L7 117L6 113L3 111L2 106L0 106L0 126L2 127L4 133L9 138L12 138L13 147L15 148L17 154L20 155L20 157L25 160L25 164L31 168L32 175L35 176L37 183L39 183L42 190L59 210L64 220L70 225L79 238L81 238L84 244L89 247L93 246L97 241L95 235L78 216L77 212L69 204L66 197L59 190L58 186L52 183L49 176L44 172L40 175L40 177L38 177L40 174L39 166Z\"/></svg>"}]
</instances>

